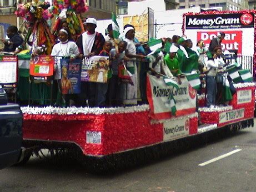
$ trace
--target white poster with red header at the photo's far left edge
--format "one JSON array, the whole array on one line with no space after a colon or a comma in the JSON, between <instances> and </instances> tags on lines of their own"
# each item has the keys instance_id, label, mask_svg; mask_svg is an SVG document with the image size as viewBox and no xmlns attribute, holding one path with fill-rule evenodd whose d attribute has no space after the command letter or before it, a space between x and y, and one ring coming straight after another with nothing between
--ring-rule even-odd
<instances>
[{"instance_id":1,"label":"white poster with red header at the photo's far left edge","mask_svg":"<svg viewBox=\"0 0 256 192\"><path fill-rule=\"evenodd\" d=\"M3 88L16 88L18 63L16 56L0 56L0 85Z\"/></svg>"}]
</instances>

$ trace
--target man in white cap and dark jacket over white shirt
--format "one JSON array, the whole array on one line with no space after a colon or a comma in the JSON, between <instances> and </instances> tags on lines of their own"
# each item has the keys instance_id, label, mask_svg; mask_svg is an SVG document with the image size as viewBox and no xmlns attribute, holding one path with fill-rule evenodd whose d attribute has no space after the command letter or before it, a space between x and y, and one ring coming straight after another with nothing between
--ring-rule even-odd
<instances>
[{"instance_id":1,"label":"man in white cap and dark jacket over white shirt","mask_svg":"<svg viewBox=\"0 0 256 192\"><path fill-rule=\"evenodd\" d=\"M77 39L77 46L79 48L79 56L92 57L99 55L102 51L105 39L101 33L95 31L97 21L94 18L86 19L86 32L84 32ZM97 84L92 82L81 82L81 105L85 105L86 99L89 100L89 106L94 107L96 104L96 88Z\"/></svg>"}]
</instances>

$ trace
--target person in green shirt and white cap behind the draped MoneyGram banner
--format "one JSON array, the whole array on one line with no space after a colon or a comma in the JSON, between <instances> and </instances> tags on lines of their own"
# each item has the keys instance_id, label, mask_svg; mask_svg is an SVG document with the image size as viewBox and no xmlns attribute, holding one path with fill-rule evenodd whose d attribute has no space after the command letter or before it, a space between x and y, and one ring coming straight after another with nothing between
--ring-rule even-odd
<instances>
[{"instance_id":1,"label":"person in green shirt and white cap behind the draped MoneyGram banner","mask_svg":"<svg viewBox=\"0 0 256 192\"><path fill-rule=\"evenodd\" d=\"M179 62L178 59L175 57L176 53L179 49L172 45L170 46L169 53L167 53L164 57L164 62L167 64L168 68L170 69L170 72L178 78L178 83L182 84L180 80L180 68L179 68Z\"/></svg>"}]
</instances>

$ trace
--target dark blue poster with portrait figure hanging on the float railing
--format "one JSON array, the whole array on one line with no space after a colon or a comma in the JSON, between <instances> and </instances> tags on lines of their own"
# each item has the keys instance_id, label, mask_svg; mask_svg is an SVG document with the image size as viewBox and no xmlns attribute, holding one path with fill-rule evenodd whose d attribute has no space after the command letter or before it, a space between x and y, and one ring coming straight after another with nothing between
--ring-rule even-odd
<instances>
[{"instance_id":1,"label":"dark blue poster with portrait figure hanging on the float railing","mask_svg":"<svg viewBox=\"0 0 256 192\"><path fill-rule=\"evenodd\" d=\"M81 59L61 59L61 90L62 94L81 93Z\"/></svg>"}]
</instances>

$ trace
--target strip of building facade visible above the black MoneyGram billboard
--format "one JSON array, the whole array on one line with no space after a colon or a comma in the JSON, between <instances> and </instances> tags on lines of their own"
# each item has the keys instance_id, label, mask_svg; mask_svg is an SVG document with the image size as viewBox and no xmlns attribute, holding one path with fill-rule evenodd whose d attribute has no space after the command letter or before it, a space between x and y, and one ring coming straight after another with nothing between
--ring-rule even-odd
<instances>
[{"instance_id":1,"label":"strip of building facade visible above the black MoneyGram billboard","mask_svg":"<svg viewBox=\"0 0 256 192\"><path fill-rule=\"evenodd\" d=\"M248 0L177 0L179 8L200 6L201 8L221 8L223 11L239 11L249 9Z\"/></svg>"}]
</instances>

